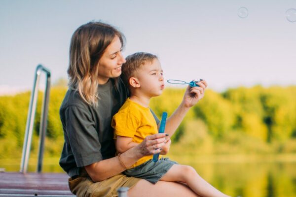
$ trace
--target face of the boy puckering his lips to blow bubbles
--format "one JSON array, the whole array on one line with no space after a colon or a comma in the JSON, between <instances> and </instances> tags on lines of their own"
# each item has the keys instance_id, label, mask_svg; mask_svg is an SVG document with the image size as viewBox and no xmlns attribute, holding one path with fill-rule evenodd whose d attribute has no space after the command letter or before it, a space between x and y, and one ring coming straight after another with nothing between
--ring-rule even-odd
<instances>
[{"instance_id":1,"label":"face of the boy puckering his lips to blow bubbles","mask_svg":"<svg viewBox=\"0 0 296 197\"><path fill-rule=\"evenodd\" d=\"M162 94L164 79L159 61L154 59L152 63L147 62L136 72L136 78L140 84L141 93L148 97L156 97Z\"/></svg>"}]
</instances>

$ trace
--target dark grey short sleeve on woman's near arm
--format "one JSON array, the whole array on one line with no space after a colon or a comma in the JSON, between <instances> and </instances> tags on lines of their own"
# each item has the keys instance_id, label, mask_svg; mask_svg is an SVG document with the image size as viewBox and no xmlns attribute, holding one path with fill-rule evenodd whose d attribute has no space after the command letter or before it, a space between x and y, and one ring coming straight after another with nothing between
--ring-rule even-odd
<instances>
[{"instance_id":1,"label":"dark grey short sleeve on woman's near arm","mask_svg":"<svg viewBox=\"0 0 296 197\"><path fill-rule=\"evenodd\" d=\"M101 143L90 112L82 107L69 106L65 117L66 131L77 166L101 161Z\"/></svg>"}]
</instances>

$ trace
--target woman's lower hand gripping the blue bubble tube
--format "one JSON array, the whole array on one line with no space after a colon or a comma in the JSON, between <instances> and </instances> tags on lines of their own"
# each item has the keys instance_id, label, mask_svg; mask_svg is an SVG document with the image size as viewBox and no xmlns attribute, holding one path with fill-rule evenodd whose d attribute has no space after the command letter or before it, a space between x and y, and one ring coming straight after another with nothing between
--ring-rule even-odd
<instances>
[{"instance_id":1,"label":"woman's lower hand gripping the blue bubble tube","mask_svg":"<svg viewBox=\"0 0 296 197\"><path fill-rule=\"evenodd\" d=\"M165 145L167 136L166 133L157 133L148 135L137 147L142 157L146 155L154 155L162 151L162 147Z\"/></svg>"}]
</instances>

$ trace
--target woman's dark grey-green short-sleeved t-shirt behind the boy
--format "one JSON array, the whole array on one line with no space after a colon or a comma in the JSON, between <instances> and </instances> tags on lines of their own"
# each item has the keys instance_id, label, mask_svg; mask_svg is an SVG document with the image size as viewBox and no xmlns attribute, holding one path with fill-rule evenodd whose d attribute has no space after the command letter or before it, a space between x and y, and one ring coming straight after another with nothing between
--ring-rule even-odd
<instances>
[{"instance_id":1,"label":"woman's dark grey-green short-sleeved t-shirt behind the boy","mask_svg":"<svg viewBox=\"0 0 296 197\"><path fill-rule=\"evenodd\" d=\"M98 87L97 107L87 104L77 91L69 89L60 107L65 143L60 159L69 176L79 175L81 167L115 156L112 116L129 92L121 79L110 79ZM159 120L155 116L157 124Z\"/></svg>"}]
</instances>

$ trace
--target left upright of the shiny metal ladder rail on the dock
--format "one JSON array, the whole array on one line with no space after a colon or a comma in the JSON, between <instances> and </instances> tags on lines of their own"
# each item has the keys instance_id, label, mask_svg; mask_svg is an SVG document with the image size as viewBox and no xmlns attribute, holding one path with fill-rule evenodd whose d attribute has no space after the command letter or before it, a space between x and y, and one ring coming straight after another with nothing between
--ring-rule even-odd
<instances>
[{"instance_id":1,"label":"left upright of the shiny metal ladder rail on the dock","mask_svg":"<svg viewBox=\"0 0 296 197\"><path fill-rule=\"evenodd\" d=\"M25 131L25 137L24 137L23 153L22 153L22 160L21 160L21 167L20 167L21 173L26 173L27 168L28 168L31 142L32 142L32 134L33 134L33 126L34 126L34 119L35 119L35 112L36 112L36 106L37 106L37 93L38 93L37 84L39 84L41 71L48 71L49 72L49 70L44 68L42 65L38 65L36 68L35 79L34 79L34 83L33 83L33 91L31 93L31 99L30 99L30 105L29 105L29 111L28 111L28 117L27 117L27 124L26 124L26 131ZM49 76L50 76L50 72L49 72ZM50 78L49 78L49 81L50 81ZM47 95L47 97L48 97L48 95ZM46 105L45 105L45 107L46 107ZM43 110L43 111L47 112L47 110Z\"/></svg>"}]
</instances>

